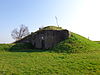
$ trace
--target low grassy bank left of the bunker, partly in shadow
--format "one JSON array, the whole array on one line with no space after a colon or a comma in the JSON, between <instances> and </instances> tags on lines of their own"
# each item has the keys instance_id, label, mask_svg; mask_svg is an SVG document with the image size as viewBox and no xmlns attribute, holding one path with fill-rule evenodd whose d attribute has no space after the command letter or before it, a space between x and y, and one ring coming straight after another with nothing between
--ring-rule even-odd
<instances>
[{"instance_id":1,"label":"low grassy bank left of the bunker, partly in shadow","mask_svg":"<svg viewBox=\"0 0 100 75\"><path fill-rule=\"evenodd\" d=\"M32 45L27 43L18 43L18 44L0 44L0 52L2 51L30 51L32 50Z\"/></svg>"}]
</instances>

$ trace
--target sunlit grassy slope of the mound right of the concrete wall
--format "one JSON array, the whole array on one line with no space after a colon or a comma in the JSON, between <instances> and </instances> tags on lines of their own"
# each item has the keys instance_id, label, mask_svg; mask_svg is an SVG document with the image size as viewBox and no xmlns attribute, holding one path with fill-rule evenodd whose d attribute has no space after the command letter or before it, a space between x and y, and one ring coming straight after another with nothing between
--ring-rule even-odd
<instances>
[{"instance_id":1,"label":"sunlit grassy slope of the mound right of the concrete wall","mask_svg":"<svg viewBox=\"0 0 100 75\"><path fill-rule=\"evenodd\" d=\"M71 33L71 37L60 42L53 48L53 50L56 52L67 53L87 52L99 49L100 45L98 43L75 33Z\"/></svg>"}]
</instances>

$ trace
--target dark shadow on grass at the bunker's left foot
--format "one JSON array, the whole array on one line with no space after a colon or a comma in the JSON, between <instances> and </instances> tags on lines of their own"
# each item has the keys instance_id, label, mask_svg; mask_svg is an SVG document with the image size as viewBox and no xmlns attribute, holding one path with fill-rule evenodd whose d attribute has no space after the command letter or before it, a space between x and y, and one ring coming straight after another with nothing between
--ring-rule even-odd
<instances>
[{"instance_id":1,"label":"dark shadow on grass at the bunker's left foot","mask_svg":"<svg viewBox=\"0 0 100 75\"><path fill-rule=\"evenodd\" d=\"M50 50L34 49L32 44L18 43L9 48L10 52L48 52Z\"/></svg>"}]
</instances>

